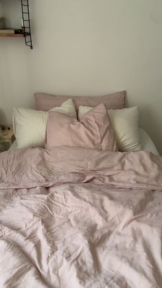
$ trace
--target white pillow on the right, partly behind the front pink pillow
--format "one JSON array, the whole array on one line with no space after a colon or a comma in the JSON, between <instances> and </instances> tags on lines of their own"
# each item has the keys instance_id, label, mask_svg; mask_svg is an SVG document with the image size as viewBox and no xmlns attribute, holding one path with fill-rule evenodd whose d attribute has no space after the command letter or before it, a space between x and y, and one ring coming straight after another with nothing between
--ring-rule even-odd
<instances>
[{"instance_id":1,"label":"white pillow on the right, partly behind the front pink pillow","mask_svg":"<svg viewBox=\"0 0 162 288\"><path fill-rule=\"evenodd\" d=\"M93 107L80 106L78 118ZM140 151L139 107L108 110L111 124L115 131L119 151Z\"/></svg>"}]
</instances>

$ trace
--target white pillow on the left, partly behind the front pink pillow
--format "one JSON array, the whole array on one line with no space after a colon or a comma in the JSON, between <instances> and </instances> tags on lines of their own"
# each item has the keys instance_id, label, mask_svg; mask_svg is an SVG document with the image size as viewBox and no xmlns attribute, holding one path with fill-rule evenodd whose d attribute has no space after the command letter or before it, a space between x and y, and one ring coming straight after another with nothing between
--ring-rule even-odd
<instances>
[{"instance_id":1,"label":"white pillow on the left, partly behind the front pink pillow","mask_svg":"<svg viewBox=\"0 0 162 288\"><path fill-rule=\"evenodd\" d=\"M73 100L63 102L60 107L50 111L77 118ZM45 146L45 130L48 112L15 107L12 109L12 122L17 148L34 148Z\"/></svg>"}]
</instances>

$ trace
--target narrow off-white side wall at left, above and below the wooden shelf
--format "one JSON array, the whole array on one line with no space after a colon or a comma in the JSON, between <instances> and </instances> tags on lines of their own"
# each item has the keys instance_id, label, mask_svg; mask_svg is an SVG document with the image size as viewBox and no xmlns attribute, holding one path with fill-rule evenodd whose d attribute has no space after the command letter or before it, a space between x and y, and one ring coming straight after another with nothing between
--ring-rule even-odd
<instances>
[{"instance_id":1,"label":"narrow off-white side wall at left, above and below the wooden shelf","mask_svg":"<svg viewBox=\"0 0 162 288\"><path fill-rule=\"evenodd\" d=\"M3 0L2 14L8 27L21 27L21 1ZM1 122L12 123L12 107L32 107L30 91L30 51L23 38L0 38L0 115Z\"/></svg>"}]
</instances>

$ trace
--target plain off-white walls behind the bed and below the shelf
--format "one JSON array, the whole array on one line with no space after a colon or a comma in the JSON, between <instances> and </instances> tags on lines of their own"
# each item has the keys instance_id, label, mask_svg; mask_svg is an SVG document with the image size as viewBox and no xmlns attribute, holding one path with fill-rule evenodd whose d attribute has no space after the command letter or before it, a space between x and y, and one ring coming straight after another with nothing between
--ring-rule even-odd
<instances>
[{"instance_id":1,"label":"plain off-white walls behind the bed and below the shelf","mask_svg":"<svg viewBox=\"0 0 162 288\"><path fill-rule=\"evenodd\" d=\"M162 153L162 1L35 0L30 8L34 50L22 39L0 38L6 121L12 105L33 106L35 91L102 95L126 89L128 105L141 107L141 126Z\"/></svg>"}]
</instances>

